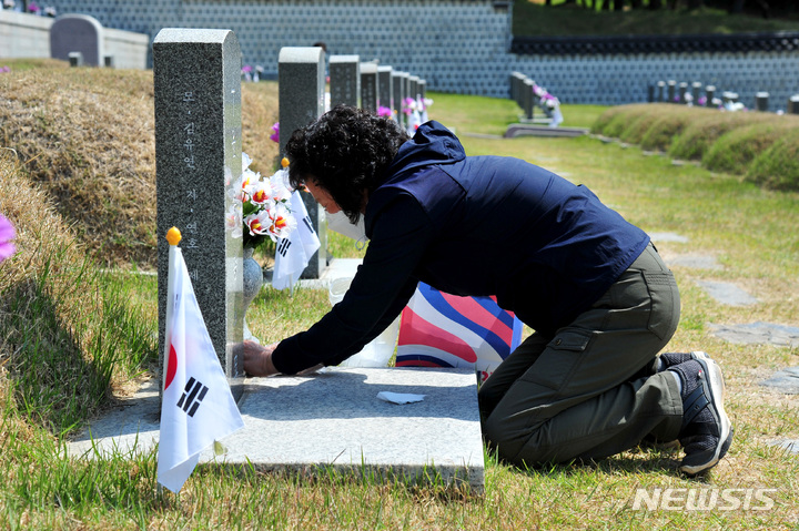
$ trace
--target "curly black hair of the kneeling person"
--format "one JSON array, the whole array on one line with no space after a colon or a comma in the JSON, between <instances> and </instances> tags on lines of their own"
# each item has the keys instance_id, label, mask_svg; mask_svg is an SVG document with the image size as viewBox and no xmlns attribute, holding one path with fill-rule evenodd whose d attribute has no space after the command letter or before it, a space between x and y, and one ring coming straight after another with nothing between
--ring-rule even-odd
<instances>
[{"instance_id":1,"label":"curly black hair of the kneeling person","mask_svg":"<svg viewBox=\"0 0 799 531\"><path fill-rule=\"evenodd\" d=\"M371 194L409 136L391 119L347 105L336 105L286 143L289 180L297 187L306 178L331 194L352 223L361 218L363 191Z\"/></svg>"}]
</instances>

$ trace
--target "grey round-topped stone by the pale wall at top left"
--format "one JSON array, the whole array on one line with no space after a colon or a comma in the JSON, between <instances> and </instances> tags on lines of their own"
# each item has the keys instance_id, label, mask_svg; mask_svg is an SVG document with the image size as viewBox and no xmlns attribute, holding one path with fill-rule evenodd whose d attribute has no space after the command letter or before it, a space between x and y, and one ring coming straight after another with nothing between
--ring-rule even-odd
<instances>
[{"instance_id":1,"label":"grey round-topped stone by the pale wall at top left","mask_svg":"<svg viewBox=\"0 0 799 531\"><path fill-rule=\"evenodd\" d=\"M70 53L83 54L85 64L102 67L103 28L93 17L63 14L50 27L50 57L70 60Z\"/></svg>"}]
</instances>

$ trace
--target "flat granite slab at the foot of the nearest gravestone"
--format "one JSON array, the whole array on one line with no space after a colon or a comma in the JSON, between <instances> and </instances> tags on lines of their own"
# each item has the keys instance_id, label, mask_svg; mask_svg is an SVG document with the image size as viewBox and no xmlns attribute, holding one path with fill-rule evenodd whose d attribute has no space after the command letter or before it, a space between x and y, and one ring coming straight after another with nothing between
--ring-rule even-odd
<instances>
[{"instance_id":1,"label":"flat granite slab at the foot of the nearest gravestone","mask_svg":"<svg viewBox=\"0 0 799 531\"><path fill-rule=\"evenodd\" d=\"M75 457L146 452L159 438L156 384L69 445ZM397 405L380 392L424 395ZM477 379L471 369L332 368L313 376L250 378L239 408L244 429L211 449L201 463L259 470L333 467L383 478L467 483L484 488ZM436 477L437 474L437 477Z\"/></svg>"}]
</instances>

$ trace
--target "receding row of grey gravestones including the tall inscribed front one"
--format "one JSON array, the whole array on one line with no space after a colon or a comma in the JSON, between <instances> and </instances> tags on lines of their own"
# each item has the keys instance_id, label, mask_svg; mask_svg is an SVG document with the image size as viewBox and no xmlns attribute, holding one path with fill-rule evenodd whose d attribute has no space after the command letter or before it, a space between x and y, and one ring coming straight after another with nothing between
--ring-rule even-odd
<instances>
[{"instance_id":1,"label":"receding row of grey gravestones including the tall inscribed front one","mask_svg":"<svg viewBox=\"0 0 799 531\"><path fill-rule=\"evenodd\" d=\"M243 333L243 247L225 218L241 208L234 201L242 173L241 68L239 40L230 30L163 29L153 41L160 353L169 275L163 236L175 226L183 234L181 248L198 304L236 398L243 378L243 360L234 348ZM281 49L281 153L293 131L323 114L325 85L322 48ZM331 104L377 110L386 102L397 109L395 102L414 93L424 98L424 81L405 72L361 63L357 55L331 58ZM321 241L303 276L318 278L327 265L324 212L310 194L303 200Z\"/></svg>"}]
</instances>

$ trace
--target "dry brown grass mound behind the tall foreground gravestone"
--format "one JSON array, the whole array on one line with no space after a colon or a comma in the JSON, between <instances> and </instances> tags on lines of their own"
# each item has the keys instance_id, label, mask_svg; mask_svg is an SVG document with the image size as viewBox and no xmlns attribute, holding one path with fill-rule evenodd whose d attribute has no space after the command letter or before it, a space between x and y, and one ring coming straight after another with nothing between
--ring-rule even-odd
<instances>
[{"instance_id":1,"label":"dry brown grass mound behind the tall foreground gravestone","mask_svg":"<svg viewBox=\"0 0 799 531\"><path fill-rule=\"evenodd\" d=\"M0 75L0 144L100 263L155 267L155 130L152 71L10 62ZM275 83L243 84L243 145L269 173L277 146Z\"/></svg>"}]
</instances>

